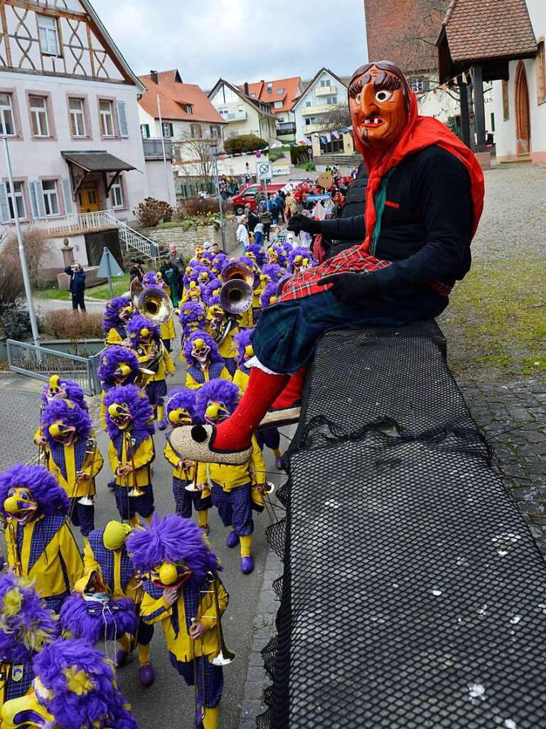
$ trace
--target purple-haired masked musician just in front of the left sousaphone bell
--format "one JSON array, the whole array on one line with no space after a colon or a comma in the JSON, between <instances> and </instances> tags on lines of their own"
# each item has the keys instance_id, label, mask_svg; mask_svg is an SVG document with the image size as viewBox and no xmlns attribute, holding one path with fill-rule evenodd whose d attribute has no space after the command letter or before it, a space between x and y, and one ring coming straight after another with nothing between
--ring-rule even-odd
<instances>
[{"instance_id":1,"label":"purple-haired masked musician just in front of the left sousaphone bell","mask_svg":"<svg viewBox=\"0 0 546 729\"><path fill-rule=\"evenodd\" d=\"M162 343L159 327L146 316L135 314L127 327L127 333L139 366L153 373L146 384L146 396L154 408L157 427L159 430L165 430L167 427L163 405L167 394L165 378L167 375L172 377L175 373L173 359Z\"/></svg>"}]
</instances>

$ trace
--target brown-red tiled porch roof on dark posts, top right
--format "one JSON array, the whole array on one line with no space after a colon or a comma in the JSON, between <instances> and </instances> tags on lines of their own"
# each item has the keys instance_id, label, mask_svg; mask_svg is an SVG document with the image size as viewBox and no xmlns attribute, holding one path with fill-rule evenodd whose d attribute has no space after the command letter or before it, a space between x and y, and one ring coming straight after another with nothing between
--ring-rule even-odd
<instances>
[{"instance_id":1,"label":"brown-red tiled porch roof on dark posts, top right","mask_svg":"<svg viewBox=\"0 0 546 729\"><path fill-rule=\"evenodd\" d=\"M525 0L452 0L443 28L453 61L537 52Z\"/></svg>"}]
</instances>

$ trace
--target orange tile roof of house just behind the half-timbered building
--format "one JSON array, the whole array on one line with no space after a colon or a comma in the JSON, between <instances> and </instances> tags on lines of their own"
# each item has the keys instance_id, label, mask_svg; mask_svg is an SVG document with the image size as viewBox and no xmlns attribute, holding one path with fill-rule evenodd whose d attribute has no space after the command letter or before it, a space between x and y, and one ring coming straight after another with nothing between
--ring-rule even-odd
<instances>
[{"instance_id":1,"label":"orange tile roof of house just behind the half-timbered building","mask_svg":"<svg viewBox=\"0 0 546 729\"><path fill-rule=\"evenodd\" d=\"M138 78L147 89L138 103L154 119L159 118L156 98L159 94L161 115L165 120L209 122L210 124L227 123L218 114L210 103L207 94L199 86L184 84L177 80L180 79L180 75L176 69L159 71L157 74L158 83L152 81L150 74ZM188 104L191 104L191 114L188 114L184 109Z\"/></svg>"}]
</instances>

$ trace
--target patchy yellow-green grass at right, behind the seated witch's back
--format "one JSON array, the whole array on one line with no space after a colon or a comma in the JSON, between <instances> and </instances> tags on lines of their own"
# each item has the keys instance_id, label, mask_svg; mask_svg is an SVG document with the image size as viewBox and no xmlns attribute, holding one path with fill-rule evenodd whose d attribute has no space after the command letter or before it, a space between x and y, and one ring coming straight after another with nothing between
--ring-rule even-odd
<instances>
[{"instance_id":1,"label":"patchy yellow-green grass at right, behind the seated witch's back","mask_svg":"<svg viewBox=\"0 0 546 729\"><path fill-rule=\"evenodd\" d=\"M457 378L546 377L546 259L478 261L438 320Z\"/></svg>"}]
</instances>

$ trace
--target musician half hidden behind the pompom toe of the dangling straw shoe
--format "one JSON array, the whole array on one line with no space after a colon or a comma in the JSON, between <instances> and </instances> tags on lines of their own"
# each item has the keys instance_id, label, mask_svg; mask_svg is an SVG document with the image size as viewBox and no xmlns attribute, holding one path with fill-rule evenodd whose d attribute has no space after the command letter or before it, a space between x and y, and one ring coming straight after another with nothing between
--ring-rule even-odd
<instances>
[{"instance_id":1,"label":"musician half hidden behind the pompom toe of the dangling straw shoe","mask_svg":"<svg viewBox=\"0 0 546 729\"><path fill-rule=\"evenodd\" d=\"M167 399L167 420L173 428L182 425L199 423L195 409L195 390L179 387L171 390ZM191 518L192 507L197 511L199 527L208 534L208 511L212 506L210 489L197 488L197 464L194 461L181 459L173 451L169 441L165 445L163 454L173 467L173 496L176 504L176 513L187 519Z\"/></svg>"}]
</instances>

